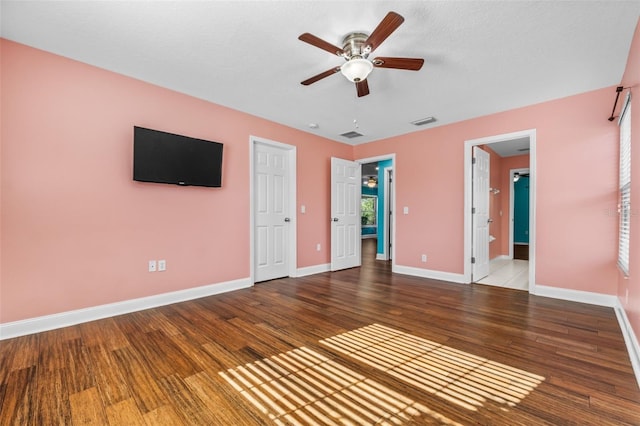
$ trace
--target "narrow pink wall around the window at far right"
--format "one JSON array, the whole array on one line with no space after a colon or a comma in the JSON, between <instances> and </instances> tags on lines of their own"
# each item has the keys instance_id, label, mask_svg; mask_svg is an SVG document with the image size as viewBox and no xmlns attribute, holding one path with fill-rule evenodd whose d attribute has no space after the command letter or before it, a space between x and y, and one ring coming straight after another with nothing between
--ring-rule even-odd
<instances>
[{"instance_id":1,"label":"narrow pink wall around the window at far right","mask_svg":"<svg viewBox=\"0 0 640 426\"><path fill-rule=\"evenodd\" d=\"M640 149L638 148L640 147L640 102L638 102L640 92L637 90L638 84L640 84L640 27L636 27L633 36L621 84L624 87L632 87L633 90L631 98L631 241L629 278L625 279L621 273L618 273L617 294L636 338L640 341L640 209L637 207L640 206ZM626 90L620 95L621 101L624 100L624 94L626 94ZM609 97L611 99L609 102L613 102L613 91ZM616 147L618 146L617 140L618 133L616 133ZM616 220L618 219L617 215L613 216ZM629 292L628 300L627 291Z\"/></svg>"}]
</instances>

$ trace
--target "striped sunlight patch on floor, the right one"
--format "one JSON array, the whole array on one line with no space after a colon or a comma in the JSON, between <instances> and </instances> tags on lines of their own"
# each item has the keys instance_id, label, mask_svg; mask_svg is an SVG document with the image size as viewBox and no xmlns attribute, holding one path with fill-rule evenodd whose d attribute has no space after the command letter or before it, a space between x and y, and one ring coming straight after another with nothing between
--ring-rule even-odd
<instances>
[{"instance_id":1,"label":"striped sunlight patch on floor, the right one","mask_svg":"<svg viewBox=\"0 0 640 426\"><path fill-rule=\"evenodd\" d=\"M487 400L513 407L544 377L372 324L320 343L391 376L476 411Z\"/></svg>"}]
</instances>

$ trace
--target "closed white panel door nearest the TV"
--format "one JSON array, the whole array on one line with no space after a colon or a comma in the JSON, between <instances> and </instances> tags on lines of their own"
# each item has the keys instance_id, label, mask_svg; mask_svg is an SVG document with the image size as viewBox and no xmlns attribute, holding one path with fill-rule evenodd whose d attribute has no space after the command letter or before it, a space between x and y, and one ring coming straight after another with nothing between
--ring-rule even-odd
<instances>
[{"instance_id":1,"label":"closed white panel door nearest the TV","mask_svg":"<svg viewBox=\"0 0 640 426\"><path fill-rule=\"evenodd\" d=\"M254 145L255 281L289 275L289 157L286 149Z\"/></svg>"}]
</instances>

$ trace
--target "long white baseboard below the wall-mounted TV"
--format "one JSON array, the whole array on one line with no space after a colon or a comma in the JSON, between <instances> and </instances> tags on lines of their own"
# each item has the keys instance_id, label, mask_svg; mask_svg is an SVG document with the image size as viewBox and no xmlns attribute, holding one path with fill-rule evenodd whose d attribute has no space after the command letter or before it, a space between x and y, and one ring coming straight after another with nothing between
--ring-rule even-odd
<instances>
[{"instance_id":1,"label":"long white baseboard below the wall-mounted TV","mask_svg":"<svg viewBox=\"0 0 640 426\"><path fill-rule=\"evenodd\" d=\"M170 293L156 294L138 299L124 300L122 302L110 303L107 305L93 306L91 308L77 309L74 311L60 312L58 314L8 322L0 324L0 340L39 333L41 331L54 330L56 328L68 327L70 325L76 325L83 322L95 321L115 315L128 314L144 309L156 308L158 306L212 296L214 294L240 290L251 286L252 283L250 278L241 278L234 281L226 281L218 284L173 291Z\"/></svg>"}]
</instances>

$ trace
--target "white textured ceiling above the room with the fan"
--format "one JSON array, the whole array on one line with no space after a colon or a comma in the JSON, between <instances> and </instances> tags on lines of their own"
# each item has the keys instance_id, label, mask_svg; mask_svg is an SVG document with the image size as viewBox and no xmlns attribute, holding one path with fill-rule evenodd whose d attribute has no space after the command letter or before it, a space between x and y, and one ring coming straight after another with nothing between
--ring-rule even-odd
<instances>
[{"instance_id":1,"label":"white textured ceiling above the room with the fan","mask_svg":"<svg viewBox=\"0 0 640 426\"><path fill-rule=\"evenodd\" d=\"M9 40L350 144L616 85L640 15L640 1L2 0L0 7ZM371 57L421 57L422 70L374 69L362 98L339 73L300 84L343 62L300 34L340 46L391 10L405 22ZM410 124L427 116L437 122ZM364 136L340 136L352 130Z\"/></svg>"}]
</instances>

